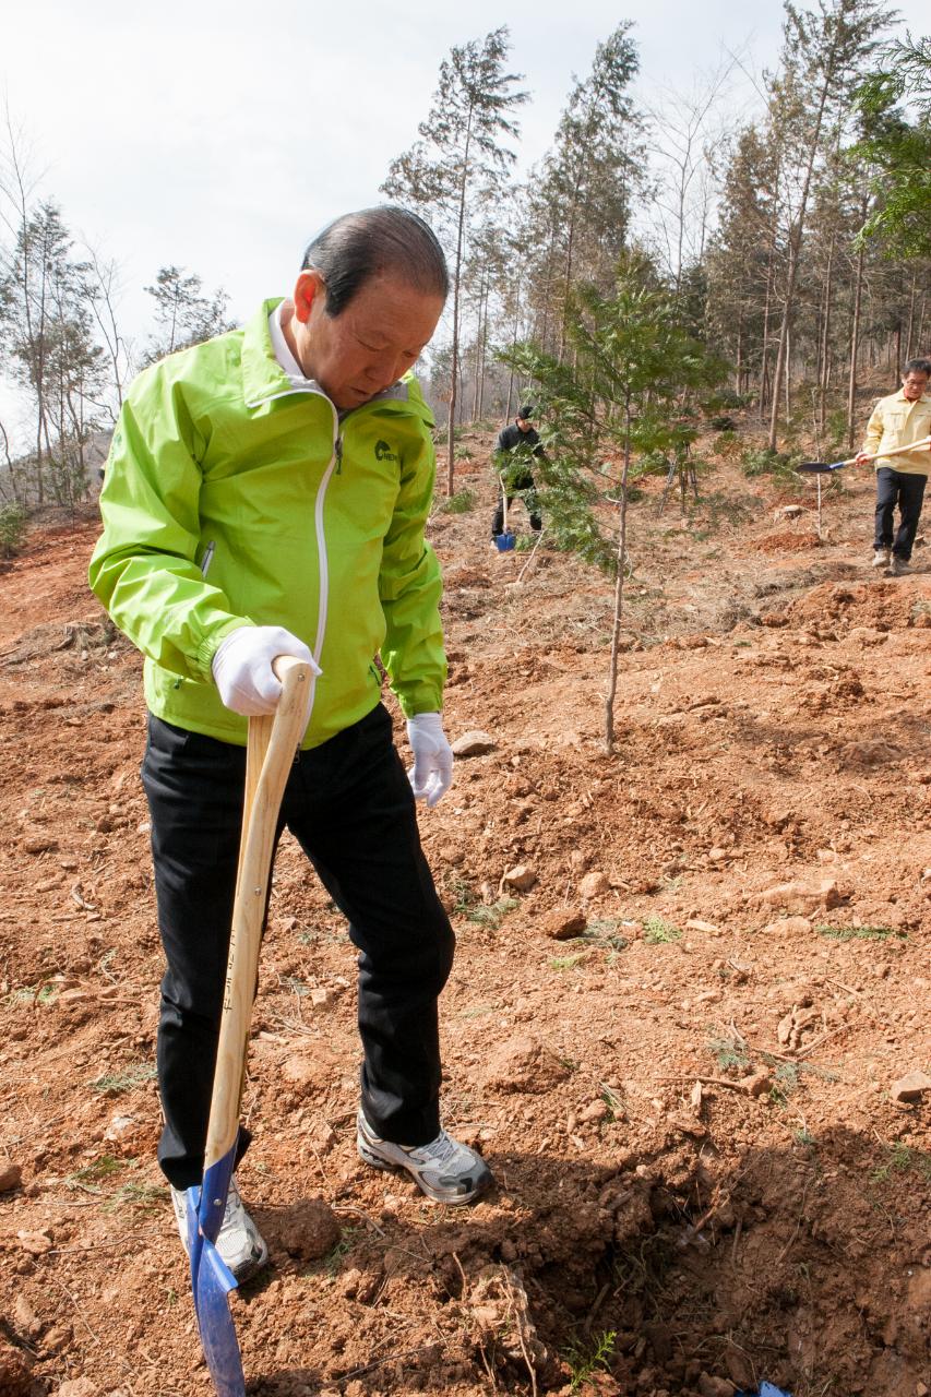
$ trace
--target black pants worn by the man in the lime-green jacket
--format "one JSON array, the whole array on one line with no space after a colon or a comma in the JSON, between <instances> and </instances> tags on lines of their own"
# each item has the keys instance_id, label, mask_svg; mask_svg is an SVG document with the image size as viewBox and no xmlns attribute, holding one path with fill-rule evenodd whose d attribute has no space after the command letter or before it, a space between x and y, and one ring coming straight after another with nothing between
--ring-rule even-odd
<instances>
[{"instance_id":1,"label":"black pants worn by the man in the lime-green jacket","mask_svg":"<svg viewBox=\"0 0 931 1397\"><path fill-rule=\"evenodd\" d=\"M158 1160L179 1189L200 1183L204 1168L245 770L245 747L150 718L143 785L168 960L158 1027L165 1118ZM380 704L299 753L278 834L285 826L348 918L359 951L365 1115L383 1139L426 1144L440 1127L436 1000L453 964L453 930Z\"/></svg>"}]
</instances>

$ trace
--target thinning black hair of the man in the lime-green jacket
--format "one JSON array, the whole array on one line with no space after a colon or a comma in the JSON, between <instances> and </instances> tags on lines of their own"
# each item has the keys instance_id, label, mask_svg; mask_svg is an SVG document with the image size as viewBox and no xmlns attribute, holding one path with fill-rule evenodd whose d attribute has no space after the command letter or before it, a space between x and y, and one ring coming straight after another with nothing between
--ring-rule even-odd
<instances>
[{"instance_id":1,"label":"thinning black hair of the man in the lime-green jacket","mask_svg":"<svg viewBox=\"0 0 931 1397\"><path fill-rule=\"evenodd\" d=\"M446 300L449 271L433 229L418 214L397 204L341 214L315 235L302 270L319 271L326 282L326 312L340 316L366 281L398 272L426 295Z\"/></svg>"}]
</instances>

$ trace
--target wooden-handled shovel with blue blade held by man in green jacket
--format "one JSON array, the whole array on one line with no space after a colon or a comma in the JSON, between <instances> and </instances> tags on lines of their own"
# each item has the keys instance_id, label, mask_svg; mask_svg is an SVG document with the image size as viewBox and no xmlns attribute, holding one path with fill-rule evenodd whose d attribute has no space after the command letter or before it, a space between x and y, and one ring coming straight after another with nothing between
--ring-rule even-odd
<instances>
[{"instance_id":1,"label":"wooden-handled shovel with blue blade held by man in green jacket","mask_svg":"<svg viewBox=\"0 0 931 1397\"><path fill-rule=\"evenodd\" d=\"M245 1397L246 1393L236 1330L226 1298L238 1281L217 1250L217 1236L236 1162L246 1039L259 974L278 809L295 749L303 736L312 673L310 665L291 655L280 655L273 668L282 683L278 707L271 717L249 719L242 841L204 1178L200 1187L194 1185L186 1194L194 1310L207 1368L219 1397Z\"/></svg>"}]
</instances>

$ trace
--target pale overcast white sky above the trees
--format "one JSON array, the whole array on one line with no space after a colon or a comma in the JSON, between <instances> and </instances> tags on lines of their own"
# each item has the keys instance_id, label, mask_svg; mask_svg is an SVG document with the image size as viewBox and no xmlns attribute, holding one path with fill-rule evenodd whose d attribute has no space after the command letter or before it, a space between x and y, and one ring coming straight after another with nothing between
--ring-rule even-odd
<instances>
[{"instance_id":1,"label":"pale overcast white sky above the trees","mask_svg":"<svg viewBox=\"0 0 931 1397\"><path fill-rule=\"evenodd\" d=\"M904 0L904 27L928 29ZM689 91L728 53L748 73L774 66L779 0L13 0L3 21L0 89L24 133L41 191L68 228L122 264L124 331L147 332L143 286L178 264L222 286L240 320L285 293L309 235L377 203L391 156L417 137L452 45L500 24L531 94L521 169L540 159L573 74L633 21L636 94ZM753 99L749 81L731 102Z\"/></svg>"}]
</instances>

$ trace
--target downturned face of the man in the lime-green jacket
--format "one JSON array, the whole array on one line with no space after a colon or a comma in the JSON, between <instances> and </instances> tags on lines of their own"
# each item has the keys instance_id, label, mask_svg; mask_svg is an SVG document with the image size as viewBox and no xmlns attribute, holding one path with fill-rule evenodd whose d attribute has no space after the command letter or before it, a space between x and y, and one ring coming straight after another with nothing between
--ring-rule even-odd
<instances>
[{"instance_id":1,"label":"downturned face of the man in the lime-green jacket","mask_svg":"<svg viewBox=\"0 0 931 1397\"><path fill-rule=\"evenodd\" d=\"M417 363L443 310L443 298L397 274L366 281L338 316L326 312L320 272L303 271L292 321L296 359L341 411L390 388Z\"/></svg>"}]
</instances>

